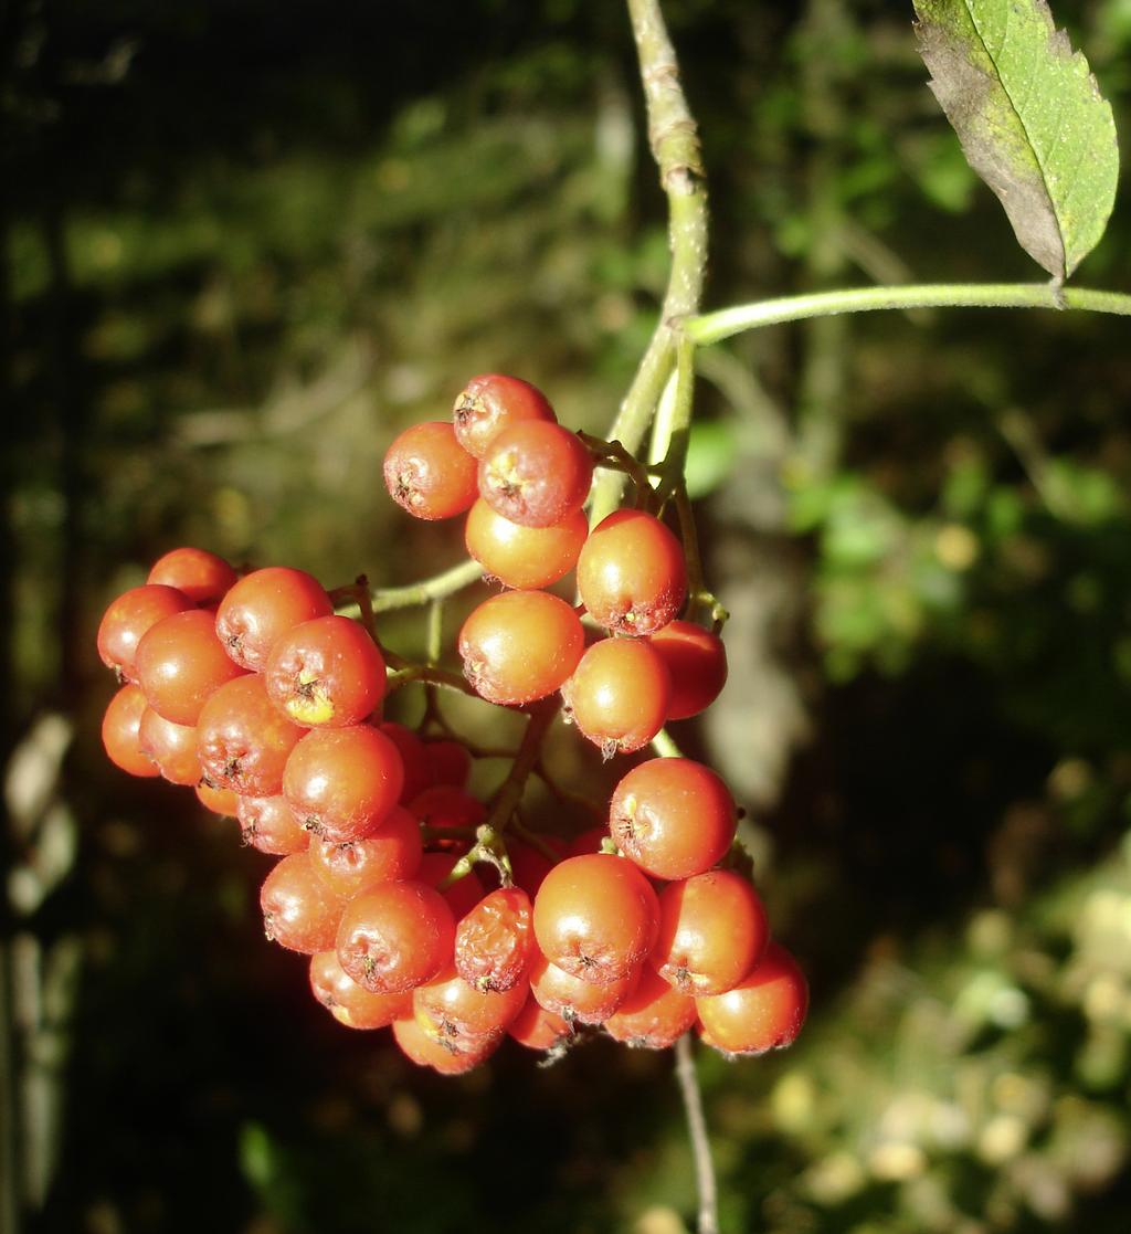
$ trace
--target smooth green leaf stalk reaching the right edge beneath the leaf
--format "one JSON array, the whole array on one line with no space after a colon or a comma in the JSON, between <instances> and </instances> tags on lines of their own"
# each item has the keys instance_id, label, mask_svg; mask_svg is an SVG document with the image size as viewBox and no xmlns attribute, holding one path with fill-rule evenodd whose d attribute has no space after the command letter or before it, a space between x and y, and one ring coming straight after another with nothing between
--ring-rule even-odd
<instances>
[{"instance_id":1,"label":"smooth green leaf stalk reaching the right edge beneath the leaf","mask_svg":"<svg viewBox=\"0 0 1131 1234\"><path fill-rule=\"evenodd\" d=\"M1131 316L1131 295L1089 288L1053 288L1048 283L924 283L893 288L846 288L779 300L719 308L683 322L699 347L762 326L879 308L1083 308Z\"/></svg>"}]
</instances>

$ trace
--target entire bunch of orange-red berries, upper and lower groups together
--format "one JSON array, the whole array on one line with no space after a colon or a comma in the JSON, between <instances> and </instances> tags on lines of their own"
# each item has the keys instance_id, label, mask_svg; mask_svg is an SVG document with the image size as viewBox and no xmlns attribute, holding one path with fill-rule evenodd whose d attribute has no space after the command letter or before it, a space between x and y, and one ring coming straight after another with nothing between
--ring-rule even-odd
<instances>
[{"instance_id":1,"label":"entire bunch of orange-red berries, upper and lower groups together","mask_svg":"<svg viewBox=\"0 0 1131 1234\"><path fill-rule=\"evenodd\" d=\"M714 633L673 619L683 554L657 517L625 510L588 533L593 465L541 394L490 375L454 424L397 438L385 475L419 517L470 511L469 549L507 589L460 634L475 691L524 706L561 690L612 755L705 707L726 669ZM575 566L580 607L608 632L588 649L578 611L540 590ZM301 570L241 578L176 549L110 605L97 642L123 682L107 754L194 786L281 859L260 896L268 937L311 956L311 988L343 1024L391 1025L446 1074L506 1034L556 1050L580 1025L662 1048L698 1024L729 1054L797 1035L805 981L733 860L738 811L709 768L639 763L607 828L503 840L506 812L467 791L469 749L382 719L372 623L335 615Z\"/></svg>"}]
</instances>

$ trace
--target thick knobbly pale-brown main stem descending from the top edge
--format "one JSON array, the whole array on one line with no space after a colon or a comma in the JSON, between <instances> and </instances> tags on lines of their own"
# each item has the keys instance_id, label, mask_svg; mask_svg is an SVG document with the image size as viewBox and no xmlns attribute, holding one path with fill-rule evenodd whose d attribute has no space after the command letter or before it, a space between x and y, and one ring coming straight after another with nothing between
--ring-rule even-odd
<instances>
[{"instance_id":1,"label":"thick knobbly pale-brown main stem descending from the top edge","mask_svg":"<svg viewBox=\"0 0 1131 1234\"><path fill-rule=\"evenodd\" d=\"M649 143L667 195L672 254L660 321L608 434L630 454L639 454L676 363L678 322L699 311L707 271L707 188L698 128L683 96L659 0L628 0L628 9L644 84ZM594 526L617 508L623 485L615 471L598 479L591 516Z\"/></svg>"}]
</instances>

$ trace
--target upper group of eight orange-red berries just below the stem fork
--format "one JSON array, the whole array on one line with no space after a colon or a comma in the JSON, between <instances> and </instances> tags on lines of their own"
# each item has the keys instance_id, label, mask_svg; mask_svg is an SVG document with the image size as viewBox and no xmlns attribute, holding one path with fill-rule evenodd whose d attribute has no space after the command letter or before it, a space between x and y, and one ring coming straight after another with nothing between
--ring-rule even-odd
<instances>
[{"instance_id":1,"label":"upper group of eight orange-red berries just below the stem fork","mask_svg":"<svg viewBox=\"0 0 1131 1234\"><path fill-rule=\"evenodd\" d=\"M715 633L675 619L687 598L676 536L645 510L618 510L590 532L594 453L528 383L474 378L453 420L401 433L385 482L418 518L466 513L467 552L506 589L460 631L475 691L523 706L560 690L566 718L606 756L703 711L726 658ZM575 569L578 608L541 590ZM609 637L587 645L582 612Z\"/></svg>"}]
</instances>

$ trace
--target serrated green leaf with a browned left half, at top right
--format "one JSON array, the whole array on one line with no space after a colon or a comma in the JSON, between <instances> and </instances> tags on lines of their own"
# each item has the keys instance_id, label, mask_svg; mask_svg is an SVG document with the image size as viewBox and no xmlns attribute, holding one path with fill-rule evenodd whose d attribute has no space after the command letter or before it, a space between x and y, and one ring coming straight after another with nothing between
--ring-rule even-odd
<instances>
[{"instance_id":1,"label":"serrated green leaf with a browned left half, at top right","mask_svg":"<svg viewBox=\"0 0 1131 1234\"><path fill-rule=\"evenodd\" d=\"M915 0L930 86L1018 241L1058 283L1104 234L1111 105L1045 0Z\"/></svg>"}]
</instances>

